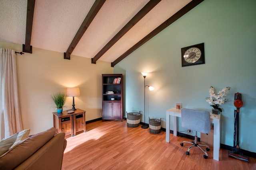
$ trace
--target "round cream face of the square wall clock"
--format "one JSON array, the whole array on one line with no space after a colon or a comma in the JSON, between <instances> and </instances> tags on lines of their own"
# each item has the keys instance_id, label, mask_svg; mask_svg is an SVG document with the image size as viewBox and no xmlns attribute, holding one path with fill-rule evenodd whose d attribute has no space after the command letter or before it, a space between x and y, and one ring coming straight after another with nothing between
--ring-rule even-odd
<instances>
[{"instance_id":1,"label":"round cream face of the square wall clock","mask_svg":"<svg viewBox=\"0 0 256 170\"><path fill-rule=\"evenodd\" d=\"M187 63L195 63L200 59L201 55L202 53L200 49L192 47L185 51L183 57Z\"/></svg>"}]
</instances>

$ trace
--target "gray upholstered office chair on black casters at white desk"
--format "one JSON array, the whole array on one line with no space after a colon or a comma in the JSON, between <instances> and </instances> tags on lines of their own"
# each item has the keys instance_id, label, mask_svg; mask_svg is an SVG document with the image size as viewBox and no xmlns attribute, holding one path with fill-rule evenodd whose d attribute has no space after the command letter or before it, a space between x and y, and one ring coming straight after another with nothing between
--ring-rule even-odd
<instances>
[{"instance_id":1,"label":"gray upholstered office chair on black casters at white desk","mask_svg":"<svg viewBox=\"0 0 256 170\"><path fill-rule=\"evenodd\" d=\"M189 150L193 147L200 148L204 153L204 158L208 158L207 152L202 149L200 146L207 147L206 150L209 151L210 148L207 145L200 145L197 143L197 132L206 133L208 134L211 129L211 122L210 122L210 113L208 111L200 111L200 110L193 110L193 109L181 109L181 122L182 127L186 129L190 129L192 131L196 131L195 139L193 142L183 141L180 145L183 147L183 143L191 143L193 144L191 147L188 148L186 152L189 155Z\"/></svg>"}]
</instances>

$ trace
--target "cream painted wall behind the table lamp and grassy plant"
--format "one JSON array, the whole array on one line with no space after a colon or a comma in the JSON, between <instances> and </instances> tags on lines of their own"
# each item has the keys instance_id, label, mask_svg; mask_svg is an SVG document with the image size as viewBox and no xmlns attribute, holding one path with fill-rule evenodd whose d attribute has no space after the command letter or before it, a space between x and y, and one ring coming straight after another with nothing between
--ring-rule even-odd
<instances>
[{"instance_id":1,"label":"cream painted wall behind the table lamp and grassy plant","mask_svg":"<svg viewBox=\"0 0 256 170\"><path fill-rule=\"evenodd\" d=\"M22 51L22 45L0 41L1 48ZM17 54L17 75L22 125L31 129L30 135L53 126L52 112L56 109L50 95L66 92L67 87L79 87L75 107L86 111L86 121L101 117L101 74L113 73L110 63L71 55L63 59L63 53L32 48L32 54ZM66 109L72 108L68 97Z\"/></svg>"}]
</instances>

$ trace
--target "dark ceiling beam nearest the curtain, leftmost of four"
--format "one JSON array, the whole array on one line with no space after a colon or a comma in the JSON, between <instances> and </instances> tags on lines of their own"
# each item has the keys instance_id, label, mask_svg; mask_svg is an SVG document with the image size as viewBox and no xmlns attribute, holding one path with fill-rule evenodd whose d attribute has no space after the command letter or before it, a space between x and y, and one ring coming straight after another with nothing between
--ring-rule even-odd
<instances>
[{"instance_id":1,"label":"dark ceiling beam nearest the curtain, leftmost of four","mask_svg":"<svg viewBox=\"0 0 256 170\"><path fill-rule=\"evenodd\" d=\"M32 35L32 25L34 17L35 0L28 0L27 4L27 18L26 18L26 37L25 44L22 45L22 52L32 53L31 35Z\"/></svg>"}]
</instances>

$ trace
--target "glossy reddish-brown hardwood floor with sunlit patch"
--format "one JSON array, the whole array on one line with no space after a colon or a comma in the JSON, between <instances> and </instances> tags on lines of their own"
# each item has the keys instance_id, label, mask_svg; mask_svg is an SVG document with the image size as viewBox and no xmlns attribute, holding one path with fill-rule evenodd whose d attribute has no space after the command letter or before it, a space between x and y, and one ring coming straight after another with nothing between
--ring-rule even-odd
<instances>
[{"instance_id":1,"label":"glossy reddish-brown hardwood floor with sunlit patch","mask_svg":"<svg viewBox=\"0 0 256 170\"><path fill-rule=\"evenodd\" d=\"M249 163L230 158L220 149L220 161L208 159L199 148L186 151L191 141L165 132L152 134L149 129L127 127L126 121L96 121L86 124L86 133L67 138L62 170L256 170L256 158Z\"/></svg>"}]
</instances>

